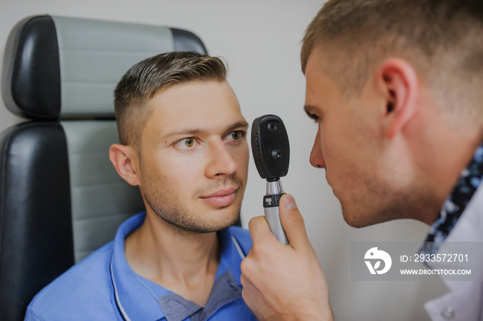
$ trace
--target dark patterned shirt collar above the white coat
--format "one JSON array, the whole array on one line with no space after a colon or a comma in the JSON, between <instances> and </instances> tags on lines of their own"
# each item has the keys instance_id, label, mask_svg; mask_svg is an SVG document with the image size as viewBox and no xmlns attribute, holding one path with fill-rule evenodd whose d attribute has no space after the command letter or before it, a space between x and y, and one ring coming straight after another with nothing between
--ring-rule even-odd
<instances>
[{"instance_id":1,"label":"dark patterned shirt collar above the white coat","mask_svg":"<svg viewBox=\"0 0 483 321\"><path fill-rule=\"evenodd\" d=\"M456 225L457 220L462 215L466 205L473 197L483 177L483 144L476 148L473 159L462 171L455 188L446 198L431 230L424 240L420 253L436 253L451 230Z\"/></svg>"}]
</instances>

